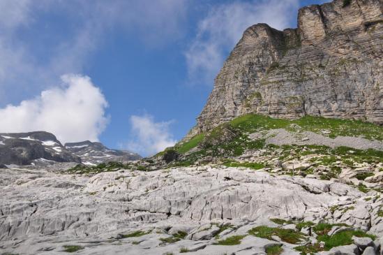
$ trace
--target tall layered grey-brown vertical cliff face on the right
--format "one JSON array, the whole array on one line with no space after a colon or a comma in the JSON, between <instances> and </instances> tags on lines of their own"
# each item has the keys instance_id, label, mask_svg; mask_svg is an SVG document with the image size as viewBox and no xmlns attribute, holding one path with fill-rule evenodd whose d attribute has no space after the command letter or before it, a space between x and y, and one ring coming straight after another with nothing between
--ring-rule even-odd
<instances>
[{"instance_id":1,"label":"tall layered grey-brown vertical cliff face on the right","mask_svg":"<svg viewBox=\"0 0 383 255\"><path fill-rule=\"evenodd\" d=\"M247 113L383 124L383 1L299 10L298 28L246 29L197 117L195 132Z\"/></svg>"}]
</instances>

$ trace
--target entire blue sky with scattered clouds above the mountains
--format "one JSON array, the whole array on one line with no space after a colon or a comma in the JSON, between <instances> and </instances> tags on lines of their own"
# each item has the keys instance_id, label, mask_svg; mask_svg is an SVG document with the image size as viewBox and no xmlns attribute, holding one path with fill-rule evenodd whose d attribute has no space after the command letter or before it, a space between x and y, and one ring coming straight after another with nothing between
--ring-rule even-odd
<instances>
[{"instance_id":1,"label":"entire blue sky with scattered clouds above the mountains","mask_svg":"<svg viewBox=\"0 0 383 255\"><path fill-rule=\"evenodd\" d=\"M153 154L195 125L246 27L322 2L2 0L0 132Z\"/></svg>"}]
</instances>

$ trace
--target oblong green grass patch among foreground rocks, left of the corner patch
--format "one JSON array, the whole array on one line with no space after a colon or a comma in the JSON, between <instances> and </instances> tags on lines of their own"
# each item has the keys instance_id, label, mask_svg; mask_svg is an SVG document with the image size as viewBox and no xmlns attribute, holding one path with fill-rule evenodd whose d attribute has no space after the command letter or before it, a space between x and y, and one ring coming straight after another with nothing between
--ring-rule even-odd
<instances>
[{"instance_id":1,"label":"oblong green grass patch among foreground rocks, left of the corner patch","mask_svg":"<svg viewBox=\"0 0 383 255\"><path fill-rule=\"evenodd\" d=\"M272 236L276 235L280 238L280 240L283 240L283 242L288 242L290 244L297 244L306 236L303 233L292 229L271 228L268 226L257 226L250 229L248 233L256 236L257 238L266 238L269 240L273 240Z\"/></svg>"}]
</instances>

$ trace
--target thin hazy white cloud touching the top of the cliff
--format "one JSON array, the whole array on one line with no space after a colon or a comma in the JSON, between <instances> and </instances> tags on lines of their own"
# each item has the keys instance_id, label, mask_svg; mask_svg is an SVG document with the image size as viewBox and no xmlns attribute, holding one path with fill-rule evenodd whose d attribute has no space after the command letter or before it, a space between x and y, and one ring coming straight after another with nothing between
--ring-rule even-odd
<instances>
[{"instance_id":1,"label":"thin hazy white cloud touching the top of the cliff","mask_svg":"<svg viewBox=\"0 0 383 255\"><path fill-rule=\"evenodd\" d=\"M267 23L276 29L285 29L292 20L295 22L298 8L299 0L236 1L213 6L198 24L197 36L185 53L190 82L212 85L225 54L247 27Z\"/></svg>"}]
</instances>

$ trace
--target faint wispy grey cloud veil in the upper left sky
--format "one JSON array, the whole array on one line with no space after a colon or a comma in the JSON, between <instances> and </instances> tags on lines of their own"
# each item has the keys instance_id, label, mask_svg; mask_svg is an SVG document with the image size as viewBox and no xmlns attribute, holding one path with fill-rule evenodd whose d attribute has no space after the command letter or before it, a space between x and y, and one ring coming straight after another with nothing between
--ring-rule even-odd
<instances>
[{"instance_id":1,"label":"faint wispy grey cloud veil in the upper left sky","mask_svg":"<svg viewBox=\"0 0 383 255\"><path fill-rule=\"evenodd\" d=\"M1 105L37 94L64 73L83 73L91 53L114 29L132 33L151 47L177 40L187 1L3 0L0 10ZM47 14L57 15L52 24L43 20ZM67 24L59 36L49 29L56 22ZM25 38L25 31L36 33ZM36 45L43 50L33 48Z\"/></svg>"}]
</instances>

